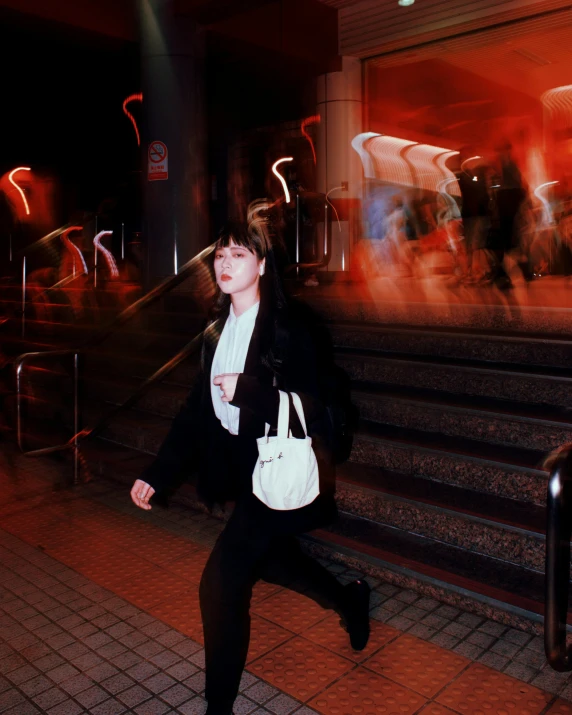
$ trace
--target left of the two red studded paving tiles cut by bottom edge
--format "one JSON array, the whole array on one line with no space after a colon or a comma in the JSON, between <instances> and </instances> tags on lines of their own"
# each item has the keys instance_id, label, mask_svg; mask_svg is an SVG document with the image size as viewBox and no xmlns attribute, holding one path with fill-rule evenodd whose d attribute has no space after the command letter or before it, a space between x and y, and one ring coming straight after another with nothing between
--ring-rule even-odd
<instances>
[{"instance_id":1,"label":"left of the two red studded paving tiles cut by bottom edge","mask_svg":"<svg viewBox=\"0 0 572 715\"><path fill-rule=\"evenodd\" d=\"M308 705L323 715L413 715L425 702L418 693L358 667L312 698Z\"/></svg>"}]
</instances>

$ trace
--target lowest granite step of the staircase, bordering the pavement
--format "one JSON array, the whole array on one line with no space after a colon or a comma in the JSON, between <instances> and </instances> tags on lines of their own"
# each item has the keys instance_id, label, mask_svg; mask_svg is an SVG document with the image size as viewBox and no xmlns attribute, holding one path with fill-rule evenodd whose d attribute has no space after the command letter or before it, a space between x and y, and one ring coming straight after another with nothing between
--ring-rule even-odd
<instances>
[{"instance_id":1,"label":"lowest granite step of the staircase, bordering the pavement","mask_svg":"<svg viewBox=\"0 0 572 715\"><path fill-rule=\"evenodd\" d=\"M544 576L540 572L345 513L334 526L304 538L318 547L318 553L373 577L541 632Z\"/></svg>"}]
</instances>

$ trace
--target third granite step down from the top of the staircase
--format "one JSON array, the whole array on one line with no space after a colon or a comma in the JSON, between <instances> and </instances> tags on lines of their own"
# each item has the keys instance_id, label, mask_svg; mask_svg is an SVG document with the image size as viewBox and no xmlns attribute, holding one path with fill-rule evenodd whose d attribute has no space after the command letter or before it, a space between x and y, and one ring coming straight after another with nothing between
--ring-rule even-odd
<instances>
[{"instance_id":1,"label":"third granite step down from the top of the staircase","mask_svg":"<svg viewBox=\"0 0 572 715\"><path fill-rule=\"evenodd\" d=\"M568 407L380 383L352 388L353 401L368 421L540 451L572 440Z\"/></svg>"}]
</instances>

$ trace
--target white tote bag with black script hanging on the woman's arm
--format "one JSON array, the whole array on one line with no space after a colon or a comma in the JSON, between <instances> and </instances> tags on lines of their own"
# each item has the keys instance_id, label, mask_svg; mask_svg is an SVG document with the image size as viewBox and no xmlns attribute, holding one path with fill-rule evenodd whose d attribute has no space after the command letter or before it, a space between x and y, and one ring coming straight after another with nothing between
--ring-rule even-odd
<instances>
[{"instance_id":1,"label":"white tote bag with black script hanging on the woman's arm","mask_svg":"<svg viewBox=\"0 0 572 715\"><path fill-rule=\"evenodd\" d=\"M290 511L311 504L320 493L318 462L308 437L302 401L295 392L292 402L304 429L304 439L291 436L288 425L290 401L280 390L278 434L269 437L266 425L264 437L257 439L258 461L252 474L254 495L271 509Z\"/></svg>"}]
</instances>

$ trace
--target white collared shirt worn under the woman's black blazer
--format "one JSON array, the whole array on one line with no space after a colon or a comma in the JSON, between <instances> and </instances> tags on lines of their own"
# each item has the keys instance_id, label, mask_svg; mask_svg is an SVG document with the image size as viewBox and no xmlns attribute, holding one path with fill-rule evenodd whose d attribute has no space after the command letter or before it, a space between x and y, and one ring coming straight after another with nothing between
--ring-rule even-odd
<instances>
[{"instance_id":1,"label":"white collared shirt worn under the woman's black blazer","mask_svg":"<svg viewBox=\"0 0 572 715\"><path fill-rule=\"evenodd\" d=\"M230 313L224 324L223 331L218 341L218 345L213 358L211 369L211 397L215 415L221 421L222 426L231 434L238 434L240 421L240 408L231 405L230 402L222 401L222 392L218 385L213 384L217 375L225 373L244 372L244 364L254 323L258 315L260 303L255 303L252 308L239 315L234 313L232 305Z\"/></svg>"}]
</instances>

